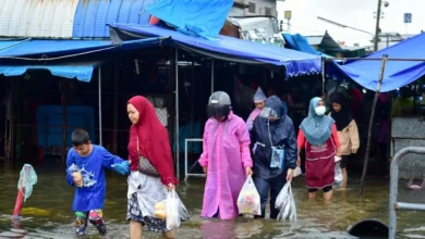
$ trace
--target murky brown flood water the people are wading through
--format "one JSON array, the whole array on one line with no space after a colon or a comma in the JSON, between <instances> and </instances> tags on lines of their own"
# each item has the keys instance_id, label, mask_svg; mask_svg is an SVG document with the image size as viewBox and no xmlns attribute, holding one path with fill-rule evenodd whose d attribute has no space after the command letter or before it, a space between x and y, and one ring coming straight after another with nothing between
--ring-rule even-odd
<instances>
[{"instance_id":1,"label":"murky brown flood water the people are wading through","mask_svg":"<svg viewBox=\"0 0 425 239\"><path fill-rule=\"evenodd\" d=\"M25 238L74 238L71 211L74 189L65 181L62 171L38 171L38 183L32 197L24 203L22 229ZM11 215L16 198L19 172L0 171L0 237L17 236L11 230ZM88 226L86 238L129 238L125 222L126 180L124 177L107 174L108 189L104 216L108 235L97 236ZM335 191L330 203L325 203L321 193L309 200L304 178L294 179L292 190L298 207L298 223L277 223L238 218L235 221L206 221L199 217L204 178L182 180L178 188L185 203L191 221L177 230L177 238L350 238L345 231L354 223L365 218L377 218L388 223L388 179L369 178L364 197L357 197L357 183L351 179L349 189ZM400 184L402 187L404 183ZM400 189L399 200L406 202L425 201L425 190ZM160 235L144 234L144 238L161 238ZM398 238L425 238L425 213L402 211L399 213Z\"/></svg>"}]
</instances>

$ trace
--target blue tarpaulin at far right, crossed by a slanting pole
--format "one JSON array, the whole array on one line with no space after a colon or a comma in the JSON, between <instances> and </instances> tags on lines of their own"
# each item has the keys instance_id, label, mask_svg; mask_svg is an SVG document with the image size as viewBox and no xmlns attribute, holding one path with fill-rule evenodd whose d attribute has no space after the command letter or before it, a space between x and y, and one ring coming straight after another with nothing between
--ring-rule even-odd
<instances>
[{"instance_id":1,"label":"blue tarpaulin at far right, crossed by a slanting pole","mask_svg":"<svg viewBox=\"0 0 425 239\"><path fill-rule=\"evenodd\" d=\"M417 35L380 51L376 51L365 59L381 59L388 54L389 59L425 59L425 34ZM376 90L381 61L352 60L344 65L333 62L327 67L327 74L335 78L351 78L363 87ZM388 92L403 87L418 79L425 74L423 61L388 61L380 91Z\"/></svg>"}]
</instances>

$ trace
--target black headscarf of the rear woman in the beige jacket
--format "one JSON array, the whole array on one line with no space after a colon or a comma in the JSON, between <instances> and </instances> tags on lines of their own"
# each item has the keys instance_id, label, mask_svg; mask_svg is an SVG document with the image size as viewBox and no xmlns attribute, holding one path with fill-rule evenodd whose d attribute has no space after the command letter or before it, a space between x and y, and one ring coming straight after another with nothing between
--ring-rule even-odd
<instances>
[{"instance_id":1,"label":"black headscarf of the rear woman in the beige jacket","mask_svg":"<svg viewBox=\"0 0 425 239\"><path fill-rule=\"evenodd\" d=\"M332 103L341 105L339 112L336 112L332 108L330 115L335 120L338 131L341 131L353 121L352 112L348 105L347 98L342 93L333 93L330 100Z\"/></svg>"}]
</instances>

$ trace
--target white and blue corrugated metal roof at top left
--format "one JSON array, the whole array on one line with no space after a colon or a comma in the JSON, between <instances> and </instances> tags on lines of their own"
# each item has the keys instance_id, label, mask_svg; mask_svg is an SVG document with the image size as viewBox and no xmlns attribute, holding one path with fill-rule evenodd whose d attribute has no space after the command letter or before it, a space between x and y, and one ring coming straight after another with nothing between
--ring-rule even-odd
<instances>
[{"instance_id":1,"label":"white and blue corrugated metal roof at top left","mask_svg":"<svg viewBox=\"0 0 425 239\"><path fill-rule=\"evenodd\" d=\"M0 0L0 37L105 38L112 23L147 24L155 0Z\"/></svg>"}]
</instances>

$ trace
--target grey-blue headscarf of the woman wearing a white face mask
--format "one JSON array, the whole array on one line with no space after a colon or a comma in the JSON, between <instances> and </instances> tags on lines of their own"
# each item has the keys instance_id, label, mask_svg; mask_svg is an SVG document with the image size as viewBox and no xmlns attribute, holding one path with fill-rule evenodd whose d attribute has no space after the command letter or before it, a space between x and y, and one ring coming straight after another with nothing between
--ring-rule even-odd
<instances>
[{"instance_id":1,"label":"grey-blue headscarf of the woman wearing a white face mask","mask_svg":"<svg viewBox=\"0 0 425 239\"><path fill-rule=\"evenodd\" d=\"M305 138L313 146L324 144L332 134L332 125L335 121L327 116L318 116L315 112L317 103L323 101L321 98L315 97L309 101L308 116L301 123Z\"/></svg>"}]
</instances>

